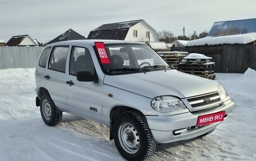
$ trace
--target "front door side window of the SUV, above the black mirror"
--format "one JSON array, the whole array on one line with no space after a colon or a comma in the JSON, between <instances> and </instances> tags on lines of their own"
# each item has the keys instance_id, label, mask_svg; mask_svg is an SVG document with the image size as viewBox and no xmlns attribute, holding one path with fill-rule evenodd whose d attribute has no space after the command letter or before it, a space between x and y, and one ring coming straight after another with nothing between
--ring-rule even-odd
<instances>
[{"instance_id":1,"label":"front door side window of the SUV, above the black mirror","mask_svg":"<svg viewBox=\"0 0 256 161\"><path fill-rule=\"evenodd\" d=\"M89 49L72 47L70 56L70 75L77 75L77 72L89 71L94 73L94 65Z\"/></svg>"}]
</instances>

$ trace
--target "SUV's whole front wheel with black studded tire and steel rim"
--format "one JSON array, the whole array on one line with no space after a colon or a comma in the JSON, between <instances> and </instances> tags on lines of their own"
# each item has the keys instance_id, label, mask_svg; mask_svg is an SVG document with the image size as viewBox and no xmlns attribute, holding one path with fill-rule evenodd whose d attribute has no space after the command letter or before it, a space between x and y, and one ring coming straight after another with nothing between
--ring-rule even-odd
<instances>
[{"instance_id":1,"label":"SUV's whole front wheel with black studded tire and steel rim","mask_svg":"<svg viewBox=\"0 0 256 161\"><path fill-rule=\"evenodd\" d=\"M113 137L117 150L126 160L145 160L157 145L147 119L139 112L119 114L113 125Z\"/></svg>"}]
</instances>

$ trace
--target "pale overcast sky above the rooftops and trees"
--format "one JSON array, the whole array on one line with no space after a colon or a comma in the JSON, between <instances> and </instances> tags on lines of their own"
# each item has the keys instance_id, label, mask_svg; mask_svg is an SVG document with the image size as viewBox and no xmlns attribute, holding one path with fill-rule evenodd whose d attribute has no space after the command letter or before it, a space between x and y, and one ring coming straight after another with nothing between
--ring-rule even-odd
<instances>
[{"instance_id":1,"label":"pale overcast sky above the rooftops and trees","mask_svg":"<svg viewBox=\"0 0 256 161\"><path fill-rule=\"evenodd\" d=\"M49 42L68 29L86 38L100 25L144 19L175 35L209 31L213 22L256 18L255 0L0 0L0 39L28 34Z\"/></svg>"}]
</instances>

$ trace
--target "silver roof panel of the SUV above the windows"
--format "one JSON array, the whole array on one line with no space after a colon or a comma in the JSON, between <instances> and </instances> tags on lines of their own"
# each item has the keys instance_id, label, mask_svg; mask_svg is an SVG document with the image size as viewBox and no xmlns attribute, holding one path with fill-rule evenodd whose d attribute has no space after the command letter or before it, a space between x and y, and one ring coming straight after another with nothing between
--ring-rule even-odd
<instances>
[{"instance_id":1,"label":"silver roof panel of the SUV above the windows","mask_svg":"<svg viewBox=\"0 0 256 161\"><path fill-rule=\"evenodd\" d=\"M63 42L57 42L48 44L45 47L51 47L51 46L58 46L58 45L83 45L83 44L89 44L94 46L95 42L103 42L104 44L122 44L122 43L132 43L132 44L144 44L139 42L132 42L132 41L124 41L124 40L69 40L69 41L63 41Z\"/></svg>"}]
</instances>

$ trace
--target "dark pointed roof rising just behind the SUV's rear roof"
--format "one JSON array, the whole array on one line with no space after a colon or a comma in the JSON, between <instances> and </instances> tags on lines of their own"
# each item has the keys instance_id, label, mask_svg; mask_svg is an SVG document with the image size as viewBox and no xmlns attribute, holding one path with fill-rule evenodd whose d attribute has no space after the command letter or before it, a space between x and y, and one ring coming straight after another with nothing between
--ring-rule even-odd
<instances>
[{"instance_id":1,"label":"dark pointed roof rising just behind the SUV's rear roof","mask_svg":"<svg viewBox=\"0 0 256 161\"><path fill-rule=\"evenodd\" d=\"M79 33L76 33L76 31L74 31L72 29L69 29L65 33L58 36L57 38L48 42L47 44L63 42L63 41L67 41L67 40L84 40L84 39L86 39L85 36L80 35Z\"/></svg>"}]
</instances>

